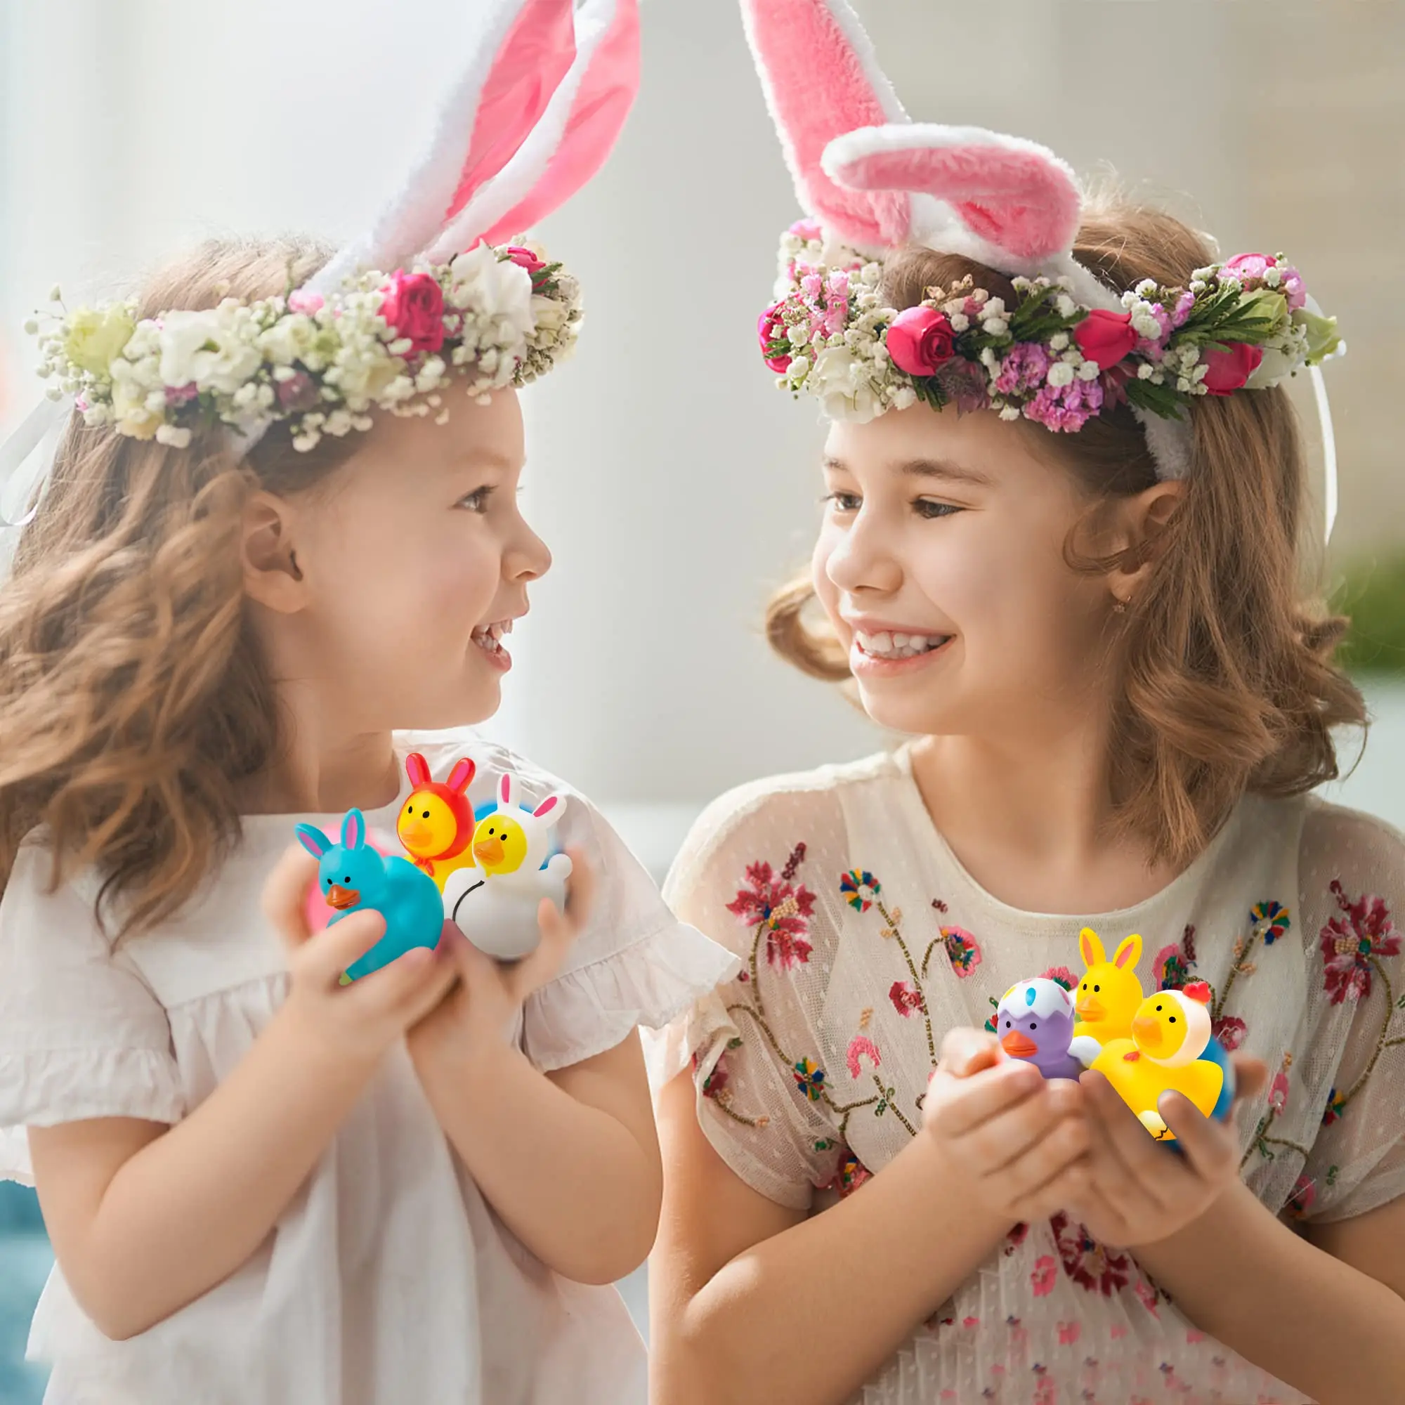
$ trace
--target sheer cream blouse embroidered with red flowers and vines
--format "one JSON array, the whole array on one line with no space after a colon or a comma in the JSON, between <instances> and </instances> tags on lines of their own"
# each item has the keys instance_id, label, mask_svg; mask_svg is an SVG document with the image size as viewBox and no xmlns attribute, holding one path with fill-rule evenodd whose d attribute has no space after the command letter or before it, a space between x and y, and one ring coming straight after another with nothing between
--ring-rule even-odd
<instances>
[{"instance_id":1,"label":"sheer cream blouse embroidered with red flowers and vines","mask_svg":"<svg viewBox=\"0 0 1405 1405\"><path fill-rule=\"evenodd\" d=\"M1142 936L1148 993L1208 981L1221 1041L1267 1062L1272 1086L1238 1131L1243 1179L1270 1210L1340 1220L1405 1193L1405 842L1367 815L1248 797L1145 902L1028 913L965 873L899 750L722 797L665 896L746 965L655 1044L655 1076L695 1061L710 1142L778 1204L821 1211L860 1190L920 1125L943 1034L986 1023L1016 981L1080 981L1083 926L1109 955ZM1017 1227L854 1399L1304 1397L1196 1331L1131 1253L1059 1214Z\"/></svg>"}]
</instances>

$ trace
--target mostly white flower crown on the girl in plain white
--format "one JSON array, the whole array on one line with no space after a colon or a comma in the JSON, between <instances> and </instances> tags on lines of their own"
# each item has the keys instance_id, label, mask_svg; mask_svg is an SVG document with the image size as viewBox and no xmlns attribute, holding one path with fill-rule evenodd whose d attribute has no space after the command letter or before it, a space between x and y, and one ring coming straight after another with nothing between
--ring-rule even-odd
<instances>
[{"instance_id":1,"label":"mostly white flower crown on the girl in plain white","mask_svg":"<svg viewBox=\"0 0 1405 1405\"><path fill-rule=\"evenodd\" d=\"M58 289L55 289L58 296ZM580 287L534 249L478 244L447 264L136 320L135 302L63 311L38 334L52 399L86 424L184 448L202 426L244 438L289 422L306 451L371 427L371 409L448 419L441 388L483 399L544 375L576 341Z\"/></svg>"}]
</instances>

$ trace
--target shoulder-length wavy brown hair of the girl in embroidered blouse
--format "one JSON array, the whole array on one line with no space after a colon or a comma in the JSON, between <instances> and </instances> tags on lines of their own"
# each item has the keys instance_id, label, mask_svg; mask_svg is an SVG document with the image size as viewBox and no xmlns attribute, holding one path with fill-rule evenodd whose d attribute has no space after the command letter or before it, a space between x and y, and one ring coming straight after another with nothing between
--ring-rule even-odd
<instances>
[{"instance_id":1,"label":"shoulder-length wavy brown hair of the girl in embroidered blouse","mask_svg":"<svg viewBox=\"0 0 1405 1405\"><path fill-rule=\"evenodd\" d=\"M1142 278L1183 285L1214 261L1180 221L1116 195L1093 202L1075 254L1118 292ZM993 270L909 249L888 261L887 302L910 308L927 288L950 288L967 275L1013 301L1010 281ZM1287 395L1207 396L1190 422L1186 490L1117 641L1121 686L1110 756L1117 829L1182 865L1246 791L1297 795L1336 777L1332 728L1366 724L1360 693L1332 662L1347 621L1301 589L1305 465ZM1103 504L1156 481L1131 412L1102 414L1079 434L1055 436L1023 420L1013 429L1073 473L1090 500L1065 544L1069 568L1138 565L1093 558L1076 545ZM808 572L771 597L771 646L815 677L847 680L847 655L813 603Z\"/></svg>"}]
</instances>

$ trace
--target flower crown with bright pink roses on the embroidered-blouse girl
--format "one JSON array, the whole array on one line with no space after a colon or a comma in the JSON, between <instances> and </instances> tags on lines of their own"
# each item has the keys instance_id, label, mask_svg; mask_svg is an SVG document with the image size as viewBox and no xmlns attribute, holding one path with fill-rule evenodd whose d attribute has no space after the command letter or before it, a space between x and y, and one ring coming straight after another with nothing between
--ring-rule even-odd
<instances>
[{"instance_id":1,"label":"flower crown with bright pink roses on the embroidered-blouse girl","mask_svg":"<svg viewBox=\"0 0 1405 1405\"><path fill-rule=\"evenodd\" d=\"M1148 278L1121 311L1076 302L1068 277L1014 277L1010 306L965 278L902 312L884 305L880 260L825 254L812 221L783 236L780 298L757 334L777 384L815 395L830 419L922 400L1064 433L1124 403L1179 420L1197 396L1266 389L1340 344L1281 254L1197 268L1184 288Z\"/></svg>"}]
</instances>

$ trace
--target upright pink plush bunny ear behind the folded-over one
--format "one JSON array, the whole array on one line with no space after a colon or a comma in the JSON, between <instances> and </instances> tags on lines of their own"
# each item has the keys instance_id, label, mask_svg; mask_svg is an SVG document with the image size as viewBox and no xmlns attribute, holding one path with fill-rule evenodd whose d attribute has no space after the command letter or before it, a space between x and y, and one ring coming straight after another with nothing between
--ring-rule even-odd
<instances>
[{"instance_id":1,"label":"upright pink plush bunny ear behind the folded-over one","mask_svg":"<svg viewBox=\"0 0 1405 1405\"><path fill-rule=\"evenodd\" d=\"M835 138L908 122L846 0L742 0L742 20L801 207L856 249L906 243L912 201L905 190L861 190L823 167Z\"/></svg>"}]
</instances>

